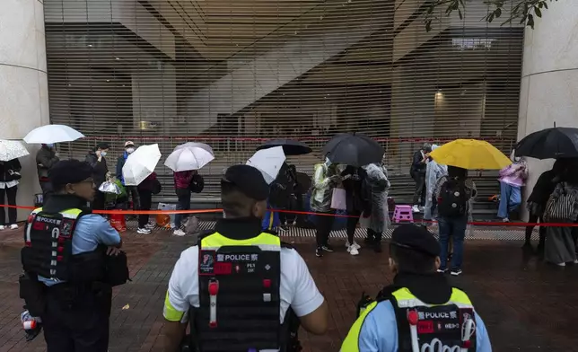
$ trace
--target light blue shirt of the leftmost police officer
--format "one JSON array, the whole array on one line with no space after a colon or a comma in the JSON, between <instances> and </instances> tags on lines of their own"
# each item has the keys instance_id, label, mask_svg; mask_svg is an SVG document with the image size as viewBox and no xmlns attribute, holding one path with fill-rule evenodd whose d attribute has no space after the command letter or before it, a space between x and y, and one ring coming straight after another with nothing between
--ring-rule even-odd
<instances>
[{"instance_id":1,"label":"light blue shirt of the leftmost police officer","mask_svg":"<svg viewBox=\"0 0 578 352\"><path fill-rule=\"evenodd\" d=\"M118 231L110 226L109 222L97 214L87 214L82 216L76 228L72 240L72 251L74 254L94 251L99 244L105 246L116 246L120 243ZM47 277L38 277L40 282L46 286L53 286L60 282Z\"/></svg>"}]
</instances>

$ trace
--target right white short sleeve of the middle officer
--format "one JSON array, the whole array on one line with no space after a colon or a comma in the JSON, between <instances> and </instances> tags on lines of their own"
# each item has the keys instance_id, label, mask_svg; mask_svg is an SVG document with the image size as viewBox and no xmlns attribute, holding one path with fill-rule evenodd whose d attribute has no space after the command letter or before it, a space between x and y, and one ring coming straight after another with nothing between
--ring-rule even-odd
<instances>
[{"instance_id":1,"label":"right white short sleeve of the middle officer","mask_svg":"<svg viewBox=\"0 0 578 352\"><path fill-rule=\"evenodd\" d=\"M285 249L282 253L281 279L286 281L282 285L292 290L291 308L298 317L302 317L319 308L324 298L299 253Z\"/></svg>"}]
</instances>

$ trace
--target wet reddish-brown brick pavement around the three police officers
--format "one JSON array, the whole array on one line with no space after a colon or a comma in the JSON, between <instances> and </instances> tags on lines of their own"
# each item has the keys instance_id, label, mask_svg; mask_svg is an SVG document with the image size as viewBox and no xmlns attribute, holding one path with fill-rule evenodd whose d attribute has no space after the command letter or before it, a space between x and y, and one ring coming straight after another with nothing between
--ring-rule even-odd
<instances>
[{"instance_id":1,"label":"wet reddish-brown brick pavement around the three police officers","mask_svg":"<svg viewBox=\"0 0 578 352\"><path fill-rule=\"evenodd\" d=\"M162 351L162 300L171 268L188 238L167 232L125 233L134 281L115 290L110 352ZM494 236L494 238L497 238ZM355 319L355 304L363 291L375 294L390 282L387 251L361 250L349 256L335 239L337 252L315 258L310 237L285 237L307 261L330 308L328 334L302 332L305 351L337 351ZM21 232L0 233L0 352L44 351L41 336L23 339L17 277ZM486 321L495 351L578 351L578 268L550 268L523 255L520 242L469 241L463 276L451 278L469 292ZM385 248L385 247L384 247ZM128 309L124 309L124 306Z\"/></svg>"}]
</instances>

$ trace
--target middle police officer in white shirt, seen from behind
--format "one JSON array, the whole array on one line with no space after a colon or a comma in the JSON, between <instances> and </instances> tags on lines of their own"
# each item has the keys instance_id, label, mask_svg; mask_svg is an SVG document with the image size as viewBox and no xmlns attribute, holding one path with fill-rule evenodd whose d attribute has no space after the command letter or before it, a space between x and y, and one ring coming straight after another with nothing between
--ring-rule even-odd
<instances>
[{"instance_id":1,"label":"middle police officer in white shirt, seen from behind","mask_svg":"<svg viewBox=\"0 0 578 352\"><path fill-rule=\"evenodd\" d=\"M165 351L179 348L188 320L192 348L200 352L283 351L290 312L313 334L327 330L328 307L305 261L261 230L268 189L252 166L225 172L224 218L183 251L173 269L164 304Z\"/></svg>"}]
</instances>

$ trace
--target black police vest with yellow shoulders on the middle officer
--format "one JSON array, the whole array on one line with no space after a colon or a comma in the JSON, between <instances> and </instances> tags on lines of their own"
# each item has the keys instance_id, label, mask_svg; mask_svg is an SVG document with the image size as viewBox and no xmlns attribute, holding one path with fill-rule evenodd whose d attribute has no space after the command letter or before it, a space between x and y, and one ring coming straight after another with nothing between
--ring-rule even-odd
<instances>
[{"instance_id":1,"label":"black police vest with yellow shoulders on the middle officer","mask_svg":"<svg viewBox=\"0 0 578 352\"><path fill-rule=\"evenodd\" d=\"M280 251L270 233L247 240L213 233L200 241L200 307L191 322L199 352L280 348Z\"/></svg>"}]
</instances>

